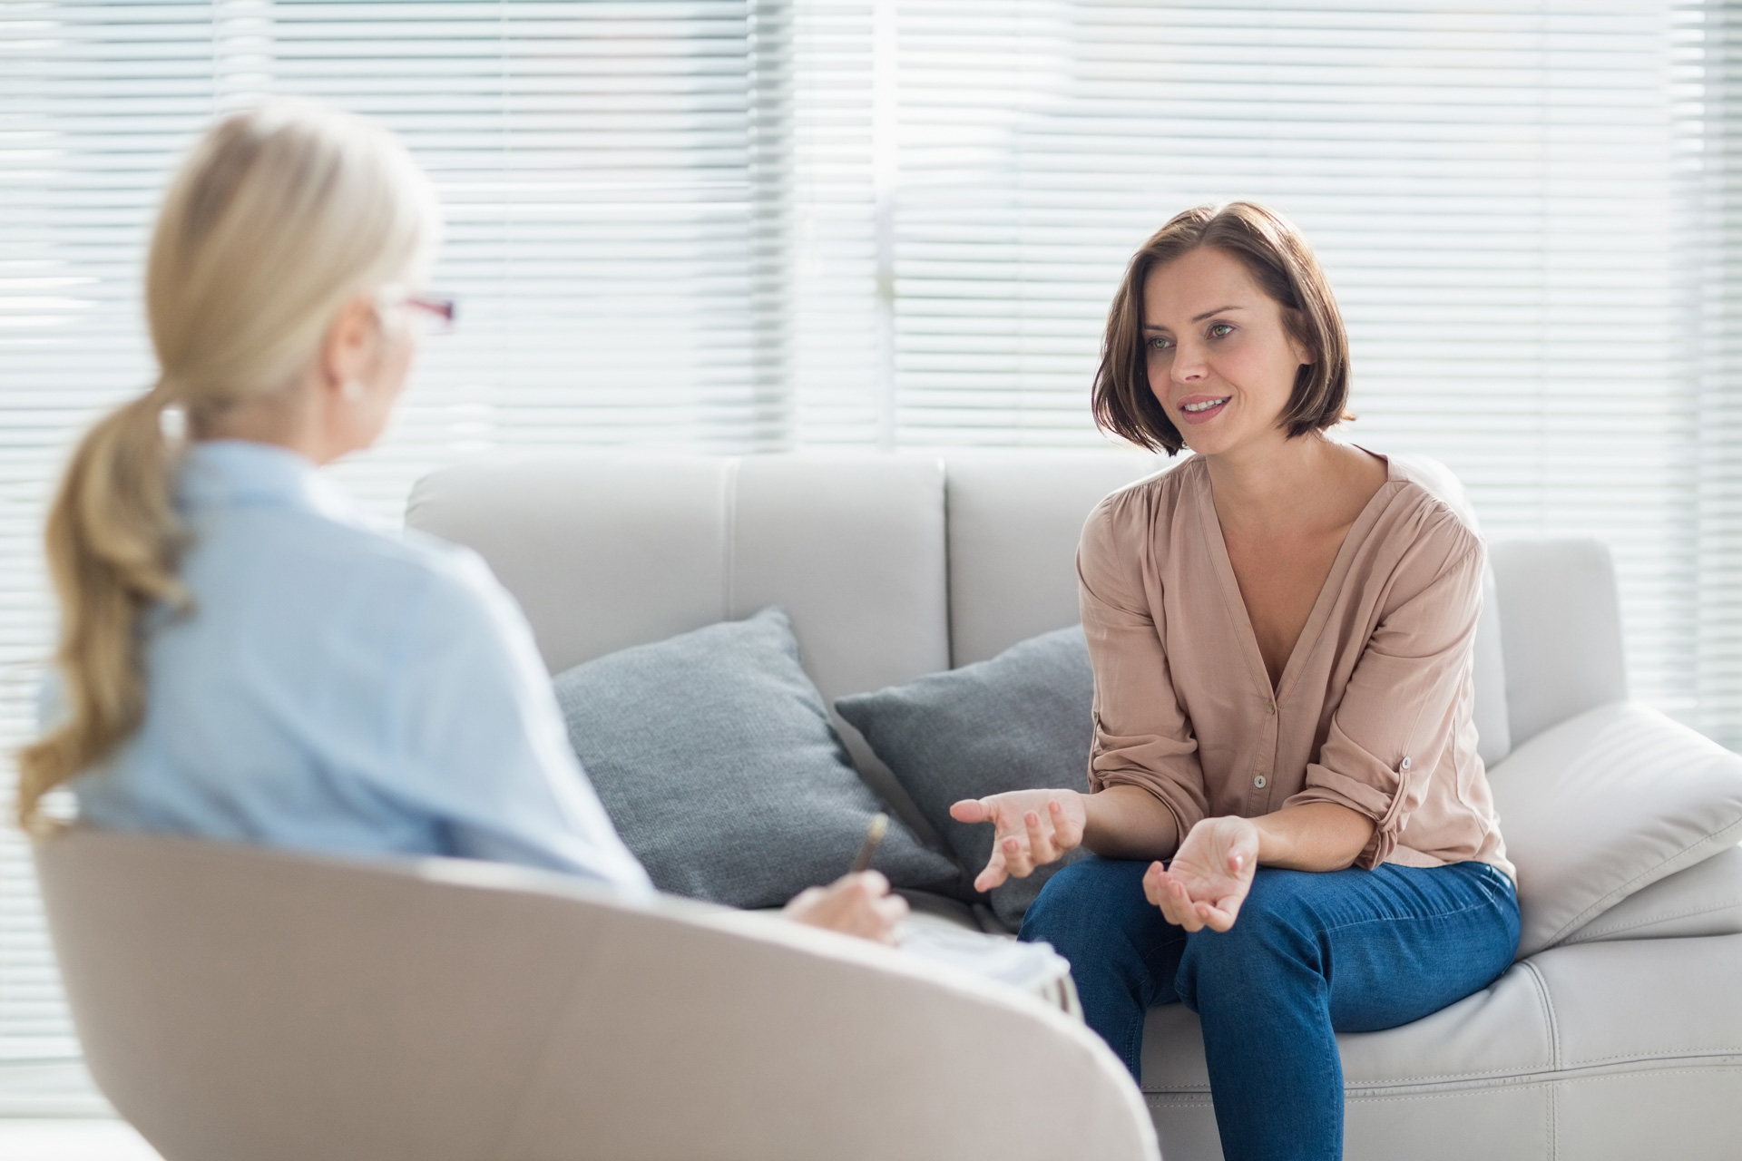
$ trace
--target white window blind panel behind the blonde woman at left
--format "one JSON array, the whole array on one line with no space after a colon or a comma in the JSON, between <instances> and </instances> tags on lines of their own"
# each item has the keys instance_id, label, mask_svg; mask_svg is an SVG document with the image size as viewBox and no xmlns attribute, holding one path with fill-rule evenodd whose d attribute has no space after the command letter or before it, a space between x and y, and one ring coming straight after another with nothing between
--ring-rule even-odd
<instances>
[{"instance_id":1,"label":"white window blind panel behind the blonde woman at left","mask_svg":"<svg viewBox=\"0 0 1742 1161\"><path fill-rule=\"evenodd\" d=\"M143 249L216 113L322 97L390 125L436 179L436 284L462 325L425 346L381 447L340 468L392 515L418 475L486 447L791 440L791 38L784 5L733 0L0 7L7 748L52 635L40 513L75 432L150 383ZM78 1111L10 829L0 870L0 1114Z\"/></svg>"}]
</instances>

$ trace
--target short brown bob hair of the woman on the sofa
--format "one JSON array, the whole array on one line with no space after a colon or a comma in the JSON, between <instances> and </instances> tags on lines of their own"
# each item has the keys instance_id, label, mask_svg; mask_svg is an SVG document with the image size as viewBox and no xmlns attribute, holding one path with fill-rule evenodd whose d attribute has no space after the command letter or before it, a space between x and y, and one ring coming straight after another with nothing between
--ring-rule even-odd
<instances>
[{"instance_id":1,"label":"short brown bob hair of the woman on the sofa","mask_svg":"<svg viewBox=\"0 0 1742 1161\"><path fill-rule=\"evenodd\" d=\"M1300 230L1256 202L1198 205L1174 214L1132 256L1106 315L1101 369L1094 376L1094 421L1150 451L1185 447L1179 428L1150 390L1143 341L1143 284L1150 272L1198 247L1212 245L1239 259L1252 280L1282 306L1296 343L1313 353L1294 376L1282 413L1289 439L1354 419L1348 414L1348 334L1331 284Z\"/></svg>"}]
</instances>

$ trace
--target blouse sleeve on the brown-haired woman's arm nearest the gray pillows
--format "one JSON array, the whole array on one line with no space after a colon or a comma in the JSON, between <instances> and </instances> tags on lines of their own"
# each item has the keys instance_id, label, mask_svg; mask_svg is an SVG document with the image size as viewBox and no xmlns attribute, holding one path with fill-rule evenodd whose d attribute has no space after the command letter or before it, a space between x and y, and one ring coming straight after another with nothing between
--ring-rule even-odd
<instances>
[{"instance_id":1,"label":"blouse sleeve on the brown-haired woman's arm nearest the gray pillows","mask_svg":"<svg viewBox=\"0 0 1742 1161\"><path fill-rule=\"evenodd\" d=\"M1143 787L1185 834L1205 816L1204 771L1192 722L1174 693L1157 623L1143 587L1148 520L1129 494L1103 501L1084 526L1077 550L1078 599L1094 665L1094 743L1089 789Z\"/></svg>"}]
</instances>

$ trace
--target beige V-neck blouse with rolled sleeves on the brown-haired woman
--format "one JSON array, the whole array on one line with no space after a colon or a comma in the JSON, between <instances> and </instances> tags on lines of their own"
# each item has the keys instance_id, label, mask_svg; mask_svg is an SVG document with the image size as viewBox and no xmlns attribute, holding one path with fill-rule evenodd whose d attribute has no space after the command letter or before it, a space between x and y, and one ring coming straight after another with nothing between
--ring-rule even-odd
<instances>
[{"instance_id":1,"label":"beige V-neck blouse with rolled sleeves on the brown-haired woman","mask_svg":"<svg viewBox=\"0 0 1742 1161\"><path fill-rule=\"evenodd\" d=\"M1516 877L1472 721L1486 557L1446 484L1387 461L1273 696L1205 463L1103 500L1077 554L1089 789L1143 787L1181 837L1200 818L1338 802L1378 823L1357 867L1481 860Z\"/></svg>"}]
</instances>

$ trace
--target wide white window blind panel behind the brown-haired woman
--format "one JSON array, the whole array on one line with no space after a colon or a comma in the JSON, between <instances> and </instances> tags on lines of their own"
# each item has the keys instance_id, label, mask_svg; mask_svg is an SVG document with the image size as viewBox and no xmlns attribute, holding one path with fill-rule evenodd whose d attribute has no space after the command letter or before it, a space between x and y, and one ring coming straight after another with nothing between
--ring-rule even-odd
<instances>
[{"instance_id":1,"label":"wide white window blind panel behind the brown-haired woman","mask_svg":"<svg viewBox=\"0 0 1742 1161\"><path fill-rule=\"evenodd\" d=\"M1125 259L1263 200L1338 292L1350 437L1442 460L1491 536L1608 540L1634 686L1685 712L1672 28L1651 0L902 7L897 440L1094 442Z\"/></svg>"}]
</instances>

